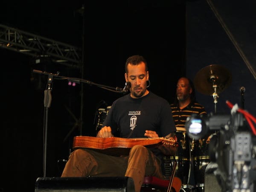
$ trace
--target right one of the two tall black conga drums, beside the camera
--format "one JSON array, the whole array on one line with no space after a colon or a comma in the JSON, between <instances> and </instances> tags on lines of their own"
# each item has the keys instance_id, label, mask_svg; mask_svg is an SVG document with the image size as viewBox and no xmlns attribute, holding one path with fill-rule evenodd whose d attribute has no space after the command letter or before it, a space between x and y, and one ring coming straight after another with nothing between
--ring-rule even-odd
<instances>
[{"instance_id":1,"label":"right one of the two tall black conga drums, beside the camera","mask_svg":"<svg viewBox=\"0 0 256 192\"><path fill-rule=\"evenodd\" d=\"M197 187L204 187L204 173L207 165L210 163L208 154L209 142L210 137L193 141L194 177Z\"/></svg>"}]
</instances>

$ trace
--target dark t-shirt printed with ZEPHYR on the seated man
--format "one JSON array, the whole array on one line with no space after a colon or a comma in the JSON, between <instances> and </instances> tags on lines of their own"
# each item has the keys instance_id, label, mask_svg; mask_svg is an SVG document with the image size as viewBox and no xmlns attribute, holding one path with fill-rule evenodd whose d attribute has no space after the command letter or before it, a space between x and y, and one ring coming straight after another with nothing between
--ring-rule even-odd
<instances>
[{"instance_id":1,"label":"dark t-shirt printed with ZEPHYR on the seated man","mask_svg":"<svg viewBox=\"0 0 256 192\"><path fill-rule=\"evenodd\" d=\"M116 99L104 126L110 126L114 136L123 138L145 138L145 130L156 131L159 137L176 131L169 103L151 92L137 99L131 98L130 94ZM162 159L158 149L150 149Z\"/></svg>"}]
</instances>

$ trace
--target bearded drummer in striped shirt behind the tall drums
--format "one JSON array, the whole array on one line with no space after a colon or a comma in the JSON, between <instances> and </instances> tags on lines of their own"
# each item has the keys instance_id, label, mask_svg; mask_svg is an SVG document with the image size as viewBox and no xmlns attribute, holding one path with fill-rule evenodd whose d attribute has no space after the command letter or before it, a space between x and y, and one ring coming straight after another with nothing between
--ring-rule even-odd
<instances>
[{"instance_id":1,"label":"bearded drummer in striped shirt behind the tall drums","mask_svg":"<svg viewBox=\"0 0 256 192\"><path fill-rule=\"evenodd\" d=\"M185 123L188 116L191 116L193 113L197 115L207 114L204 106L200 105L196 101L195 87L193 82L186 77L181 77L178 79L175 100L170 106L172 109L172 116L175 121L177 132L183 132L183 134L185 134L186 131ZM190 150L188 152L190 152ZM190 157L190 154L184 155ZM190 177L190 181L188 182L194 184L193 178Z\"/></svg>"}]
</instances>

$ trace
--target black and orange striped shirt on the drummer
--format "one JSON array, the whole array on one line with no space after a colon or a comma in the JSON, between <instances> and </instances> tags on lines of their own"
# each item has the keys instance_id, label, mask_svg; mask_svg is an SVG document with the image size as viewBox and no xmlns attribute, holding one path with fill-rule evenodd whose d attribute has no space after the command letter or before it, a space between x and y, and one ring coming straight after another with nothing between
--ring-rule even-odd
<instances>
[{"instance_id":1,"label":"black and orange striped shirt on the drummer","mask_svg":"<svg viewBox=\"0 0 256 192\"><path fill-rule=\"evenodd\" d=\"M176 128L185 129L186 118L188 116L191 116L192 113L195 113L198 116L202 114L204 115L207 114L204 107L200 105L198 102L195 102L194 104L190 103L188 106L186 106L183 109L180 109L180 107L175 104L171 104L170 107L172 109L172 116L173 116Z\"/></svg>"}]
</instances>

